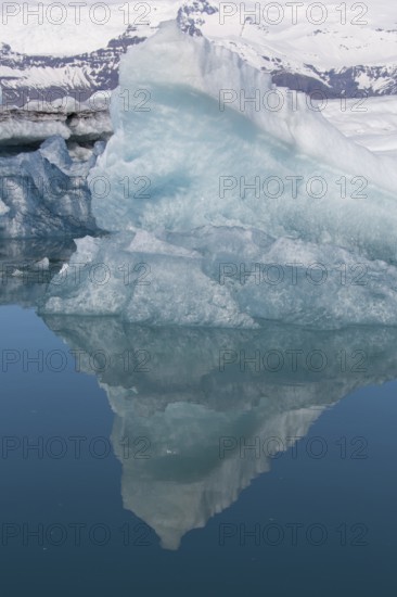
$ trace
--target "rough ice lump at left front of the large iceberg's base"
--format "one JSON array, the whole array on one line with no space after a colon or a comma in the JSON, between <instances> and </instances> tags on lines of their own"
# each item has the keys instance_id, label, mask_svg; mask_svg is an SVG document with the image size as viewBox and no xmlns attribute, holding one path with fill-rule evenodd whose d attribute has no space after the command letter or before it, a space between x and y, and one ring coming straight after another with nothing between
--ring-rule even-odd
<instances>
[{"instance_id":1,"label":"rough ice lump at left front of the large iceberg's base","mask_svg":"<svg viewBox=\"0 0 397 597\"><path fill-rule=\"evenodd\" d=\"M129 236L77 240L71 272L53 280L42 313L112 314L151 325L254 326L229 290L206 276L200 254L153 240L155 253L153 247L132 252Z\"/></svg>"}]
</instances>

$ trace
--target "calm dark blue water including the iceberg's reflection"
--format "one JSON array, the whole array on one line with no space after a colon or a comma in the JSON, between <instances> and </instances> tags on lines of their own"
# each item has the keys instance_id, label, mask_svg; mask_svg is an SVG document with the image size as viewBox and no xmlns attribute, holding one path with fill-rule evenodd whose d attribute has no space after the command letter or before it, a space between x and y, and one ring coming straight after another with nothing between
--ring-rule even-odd
<instances>
[{"instance_id":1,"label":"calm dark blue water including the iceberg's reflection","mask_svg":"<svg viewBox=\"0 0 397 597\"><path fill-rule=\"evenodd\" d=\"M397 329L40 316L41 287L2 287L2 595L396 594Z\"/></svg>"}]
</instances>

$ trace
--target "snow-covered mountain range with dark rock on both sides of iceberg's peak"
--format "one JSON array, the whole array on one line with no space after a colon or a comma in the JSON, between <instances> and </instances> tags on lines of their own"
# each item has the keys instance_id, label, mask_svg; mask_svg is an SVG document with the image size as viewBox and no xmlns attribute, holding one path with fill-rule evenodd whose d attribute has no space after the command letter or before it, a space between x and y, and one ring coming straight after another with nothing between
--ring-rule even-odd
<instances>
[{"instance_id":1,"label":"snow-covered mountain range with dark rock on both sides of iceberg's peak","mask_svg":"<svg viewBox=\"0 0 397 597\"><path fill-rule=\"evenodd\" d=\"M22 13L4 16L1 4L3 103L21 106L43 94L78 94L85 100L95 90L115 88L120 55L170 18L177 18L189 35L205 36L270 73L278 86L326 98L397 93L397 18L392 0L114 2L105 23L99 23L103 16L85 11L78 23L68 11L62 25L55 24L53 11L46 12L48 5L43 3L38 25L37 18Z\"/></svg>"}]
</instances>

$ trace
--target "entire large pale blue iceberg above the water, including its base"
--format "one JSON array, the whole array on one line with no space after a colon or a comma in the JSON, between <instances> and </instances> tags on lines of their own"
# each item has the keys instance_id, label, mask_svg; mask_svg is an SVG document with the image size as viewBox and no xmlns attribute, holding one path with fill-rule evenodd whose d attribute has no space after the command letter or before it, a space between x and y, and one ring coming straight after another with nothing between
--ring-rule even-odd
<instances>
[{"instance_id":1,"label":"entire large pale blue iceberg above the water, including its base","mask_svg":"<svg viewBox=\"0 0 397 597\"><path fill-rule=\"evenodd\" d=\"M347 140L303 94L291 105L279 89L278 110L239 102L271 89L268 75L174 22L130 49L115 135L90 173L91 188L106 181L92 212L113 234L77 241L74 256L112 264L112 276L54 285L42 310L150 325L396 325L394 160ZM146 283L126 284L127 263L145 264Z\"/></svg>"}]
</instances>

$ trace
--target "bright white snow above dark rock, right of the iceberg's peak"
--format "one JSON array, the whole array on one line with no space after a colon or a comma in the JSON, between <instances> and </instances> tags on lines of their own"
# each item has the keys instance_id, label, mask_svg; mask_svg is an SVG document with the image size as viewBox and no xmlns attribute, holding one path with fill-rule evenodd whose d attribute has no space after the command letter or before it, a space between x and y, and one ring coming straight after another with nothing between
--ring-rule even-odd
<instances>
[{"instance_id":1,"label":"bright white snow above dark rock, right of the iceberg's peak","mask_svg":"<svg viewBox=\"0 0 397 597\"><path fill-rule=\"evenodd\" d=\"M341 9L337 10L341 3L333 0L320 3L323 7L321 14L319 10L310 9L313 2L304 0L303 5L296 9L296 18L286 0L276 3L280 12L268 11L267 7L271 3L264 1L244 2L242 10L239 2L212 4L229 4L230 8L226 7L221 16L206 15L203 34L221 45L229 42L242 50L246 48L248 55L254 50L257 65L264 65L264 55L286 60L299 69L305 64L329 69L356 64L396 63L396 30L390 29L397 27L389 0L366 2L366 14L360 3L346 3L344 14ZM260 11L255 12L257 5L260 5ZM230 16L229 12L232 12ZM245 15L248 16L242 26Z\"/></svg>"}]
</instances>

